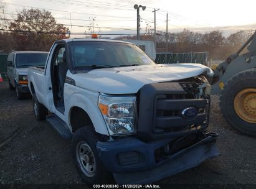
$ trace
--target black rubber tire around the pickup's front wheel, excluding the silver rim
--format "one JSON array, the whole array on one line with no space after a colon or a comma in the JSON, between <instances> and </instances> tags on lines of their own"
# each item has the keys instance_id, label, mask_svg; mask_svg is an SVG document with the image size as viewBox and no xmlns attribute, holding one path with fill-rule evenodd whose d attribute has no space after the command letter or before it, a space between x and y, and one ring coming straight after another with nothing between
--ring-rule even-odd
<instances>
[{"instance_id":1,"label":"black rubber tire around the pickup's front wheel, excluding the silver rim","mask_svg":"<svg viewBox=\"0 0 256 189\"><path fill-rule=\"evenodd\" d=\"M75 168L77 168L77 172L79 173L80 177L82 177L82 179L89 185L111 183L113 180L111 173L108 172L107 169L103 166L102 161L98 155L98 150L96 147L98 141L100 141L100 136L98 136L98 134L94 131L93 126L86 126L78 129L75 131L75 134L73 134L72 137L71 154ZM93 153L94 159L93 161L90 161L95 162L95 164L93 164L95 165L94 175L90 175L91 172L87 172L86 168L83 168L85 162L79 160L80 157L78 157L78 153L80 153L80 145L86 144L90 147ZM92 157L90 153L87 154L89 154L88 156ZM90 177L88 175L90 175Z\"/></svg>"}]
</instances>

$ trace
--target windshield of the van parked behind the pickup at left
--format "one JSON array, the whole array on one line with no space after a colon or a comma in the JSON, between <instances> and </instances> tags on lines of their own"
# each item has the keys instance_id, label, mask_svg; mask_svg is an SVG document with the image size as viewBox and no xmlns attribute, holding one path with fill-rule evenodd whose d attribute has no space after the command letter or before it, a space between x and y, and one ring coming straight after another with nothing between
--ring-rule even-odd
<instances>
[{"instance_id":1,"label":"windshield of the van parked behind the pickup at left","mask_svg":"<svg viewBox=\"0 0 256 189\"><path fill-rule=\"evenodd\" d=\"M44 66L48 53L20 53L16 55L16 67Z\"/></svg>"}]
</instances>

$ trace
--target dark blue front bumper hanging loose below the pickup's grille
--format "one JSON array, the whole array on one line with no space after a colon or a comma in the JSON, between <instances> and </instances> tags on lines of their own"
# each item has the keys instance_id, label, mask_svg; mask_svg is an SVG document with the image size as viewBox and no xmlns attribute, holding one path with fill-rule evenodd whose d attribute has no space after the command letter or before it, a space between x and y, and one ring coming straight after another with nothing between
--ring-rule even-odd
<instances>
[{"instance_id":1,"label":"dark blue front bumper hanging loose below the pickup's grille","mask_svg":"<svg viewBox=\"0 0 256 189\"><path fill-rule=\"evenodd\" d=\"M103 165L113 173L116 183L151 183L191 167L204 160L217 157L216 138L207 136L196 144L186 147L167 159L157 162L155 150L173 139L143 142L126 137L111 142L98 142L97 149Z\"/></svg>"}]
</instances>

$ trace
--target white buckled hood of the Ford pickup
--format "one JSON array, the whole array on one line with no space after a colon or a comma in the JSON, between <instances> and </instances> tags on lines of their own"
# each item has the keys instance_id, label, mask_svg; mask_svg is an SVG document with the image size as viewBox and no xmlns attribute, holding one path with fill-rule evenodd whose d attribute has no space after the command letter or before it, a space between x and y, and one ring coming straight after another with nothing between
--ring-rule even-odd
<instances>
[{"instance_id":1,"label":"white buckled hood of the Ford pickup","mask_svg":"<svg viewBox=\"0 0 256 189\"><path fill-rule=\"evenodd\" d=\"M182 80L213 71L201 64L182 63L169 65L143 65L136 67L102 68L88 73L70 72L67 76L75 80L75 85L87 90L107 94L135 94L146 84Z\"/></svg>"}]
</instances>

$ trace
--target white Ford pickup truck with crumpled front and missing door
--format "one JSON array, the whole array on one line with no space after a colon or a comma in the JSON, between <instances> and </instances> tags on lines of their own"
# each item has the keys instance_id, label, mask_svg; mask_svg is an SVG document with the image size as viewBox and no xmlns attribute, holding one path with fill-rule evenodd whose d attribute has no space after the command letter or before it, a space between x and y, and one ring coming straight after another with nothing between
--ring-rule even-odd
<instances>
[{"instance_id":1,"label":"white Ford pickup truck with crumpled front and missing door","mask_svg":"<svg viewBox=\"0 0 256 189\"><path fill-rule=\"evenodd\" d=\"M129 42L65 39L28 82L36 119L72 138L85 182L142 184L219 155L206 130L212 75L199 64L156 65Z\"/></svg>"}]
</instances>

